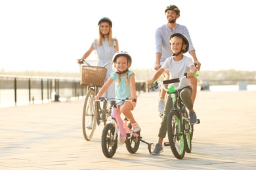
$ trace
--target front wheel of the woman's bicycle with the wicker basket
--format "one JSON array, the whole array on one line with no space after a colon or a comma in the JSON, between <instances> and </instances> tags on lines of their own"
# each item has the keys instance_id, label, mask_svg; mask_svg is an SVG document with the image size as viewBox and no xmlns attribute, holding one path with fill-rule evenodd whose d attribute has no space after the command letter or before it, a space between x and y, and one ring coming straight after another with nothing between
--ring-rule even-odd
<instances>
[{"instance_id":1,"label":"front wheel of the woman's bicycle with the wicker basket","mask_svg":"<svg viewBox=\"0 0 256 170\"><path fill-rule=\"evenodd\" d=\"M95 91L88 90L85 96L85 103L83 105L83 137L85 140L90 141L93 137L96 126L96 105L95 105Z\"/></svg>"}]
</instances>

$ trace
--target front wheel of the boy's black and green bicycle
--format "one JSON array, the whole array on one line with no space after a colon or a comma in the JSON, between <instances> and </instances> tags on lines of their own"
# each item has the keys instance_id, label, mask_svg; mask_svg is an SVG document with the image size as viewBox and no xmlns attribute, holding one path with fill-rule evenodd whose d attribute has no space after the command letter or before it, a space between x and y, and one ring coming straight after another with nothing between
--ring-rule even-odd
<instances>
[{"instance_id":1,"label":"front wheel of the boy's black and green bicycle","mask_svg":"<svg viewBox=\"0 0 256 170\"><path fill-rule=\"evenodd\" d=\"M184 135L181 131L180 114L171 111L167 116L167 133L173 155L181 160L185 155Z\"/></svg>"}]
</instances>

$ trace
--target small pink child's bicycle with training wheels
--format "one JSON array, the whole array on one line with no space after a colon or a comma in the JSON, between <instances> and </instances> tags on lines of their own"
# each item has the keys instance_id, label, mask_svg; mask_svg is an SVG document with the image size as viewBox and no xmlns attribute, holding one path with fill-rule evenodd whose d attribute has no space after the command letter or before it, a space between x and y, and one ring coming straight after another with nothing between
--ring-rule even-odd
<instances>
[{"instance_id":1,"label":"small pink child's bicycle with training wheels","mask_svg":"<svg viewBox=\"0 0 256 170\"><path fill-rule=\"evenodd\" d=\"M116 154L117 144L125 144L128 152L134 154L139 149L140 141L148 144L148 150L152 153L154 144L142 140L140 132L133 133L131 122L127 118L121 120L117 104L131 100L100 97L96 101L110 103L108 112L111 112L111 121L104 126L101 137L102 152L106 158L112 158Z\"/></svg>"}]
</instances>

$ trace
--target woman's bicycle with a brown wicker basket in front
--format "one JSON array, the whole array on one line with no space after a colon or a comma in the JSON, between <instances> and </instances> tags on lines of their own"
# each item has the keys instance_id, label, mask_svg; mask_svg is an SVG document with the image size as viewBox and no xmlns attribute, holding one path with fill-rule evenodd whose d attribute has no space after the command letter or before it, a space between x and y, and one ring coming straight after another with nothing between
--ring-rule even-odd
<instances>
[{"instance_id":1,"label":"woman's bicycle with a brown wicker basket in front","mask_svg":"<svg viewBox=\"0 0 256 170\"><path fill-rule=\"evenodd\" d=\"M106 63L102 67L91 66L87 61L81 60L81 82L82 86L87 88L85 95L85 103L83 105L83 137L90 141L96 129L96 123L100 126L103 122L104 126L108 120L107 103L95 103L95 95L98 93L98 88L102 87L106 78Z\"/></svg>"}]
</instances>

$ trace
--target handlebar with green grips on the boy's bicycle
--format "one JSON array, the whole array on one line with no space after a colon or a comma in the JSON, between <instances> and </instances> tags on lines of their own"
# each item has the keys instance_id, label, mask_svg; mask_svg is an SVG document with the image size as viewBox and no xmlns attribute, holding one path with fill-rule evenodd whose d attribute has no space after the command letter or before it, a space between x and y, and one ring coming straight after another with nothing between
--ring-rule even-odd
<instances>
[{"instance_id":1,"label":"handlebar with green grips on the boy's bicycle","mask_svg":"<svg viewBox=\"0 0 256 170\"><path fill-rule=\"evenodd\" d=\"M181 78L173 78L171 80L163 80L163 81L154 81L154 87L155 88L159 88L160 86L169 93L173 93L176 92L177 90L181 89L181 82L186 78L187 73L184 73L184 76L182 76ZM198 73L194 74L194 76L199 76ZM171 86L170 88L165 88L165 86L163 86L164 84L170 84L170 83L174 83L174 82L180 82L179 86L177 88L175 88L175 86Z\"/></svg>"}]
</instances>

